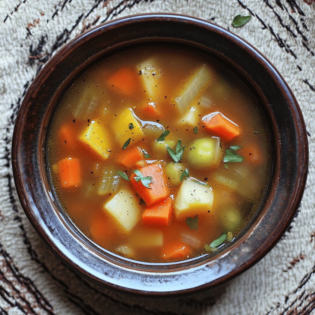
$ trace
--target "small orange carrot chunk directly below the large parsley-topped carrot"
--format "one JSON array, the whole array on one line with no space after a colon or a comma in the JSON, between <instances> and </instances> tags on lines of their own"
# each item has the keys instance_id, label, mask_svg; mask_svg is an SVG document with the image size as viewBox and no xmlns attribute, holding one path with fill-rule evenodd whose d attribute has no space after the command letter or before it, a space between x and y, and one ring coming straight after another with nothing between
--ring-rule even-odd
<instances>
[{"instance_id":1,"label":"small orange carrot chunk directly below the large parsley-topped carrot","mask_svg":"<svg viewBox=\"0 0 315 315\"><path fill-rule=\"evenodd\" d=\"M173 215L173 199L167 198L161 203L147 207L142 214L142 221L146 225L168 226Z\"/></svg>"}]
</instances>

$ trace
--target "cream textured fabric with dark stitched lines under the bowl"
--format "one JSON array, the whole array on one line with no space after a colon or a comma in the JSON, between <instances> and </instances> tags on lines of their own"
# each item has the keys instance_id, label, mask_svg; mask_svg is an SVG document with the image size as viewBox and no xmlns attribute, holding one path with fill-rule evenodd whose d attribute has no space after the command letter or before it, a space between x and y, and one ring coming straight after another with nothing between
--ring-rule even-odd
<instances>
[{"instance_id":1,"label":"cream textured fabric with dark stitched lines under the bowl","mask_svg":"<svg viewBox=\"0 0 315 315\"><path fill-rule=\"evenodd\" d=\"M314 0L0 0L1 314L315 314ZM293 90L309 132L310 170L301 207L281 241L238 278L196 295L123 295L63 265L24 214L11 170L14 120L49 58L84 30L117 17L175 12L211 20L257 47ZM235 15L252 15L241 28Z\"/></svg>"}]
</instances>

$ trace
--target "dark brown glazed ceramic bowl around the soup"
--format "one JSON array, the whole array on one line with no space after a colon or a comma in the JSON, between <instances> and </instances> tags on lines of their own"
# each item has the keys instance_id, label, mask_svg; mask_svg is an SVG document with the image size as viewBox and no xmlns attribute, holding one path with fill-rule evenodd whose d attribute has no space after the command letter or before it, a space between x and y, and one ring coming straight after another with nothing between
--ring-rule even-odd
<instances>
[{"instance_id":1,"label":"dark brown glazed ceramic bowl around the soup","mask_svg":"<svg viewBox=\"0 0 315 315\"><path fill-rule=\"evenodd\" d=\"M134 45L182 46L207 54L234 72L259 101L272 148L270 180L257 214L216 255L169 264L141 263L101 249L60 208L46 169L46 135L65 89L99 58ZM15 185L29 220L75 271L112 289L174 295L214 287L253 266L278 242L301 202L308 145L301 110L284 79L260 52L207 21L175 14L130 16L72 40L37 75L18 114L12 148Z\"/></svg>"}]
</instances>

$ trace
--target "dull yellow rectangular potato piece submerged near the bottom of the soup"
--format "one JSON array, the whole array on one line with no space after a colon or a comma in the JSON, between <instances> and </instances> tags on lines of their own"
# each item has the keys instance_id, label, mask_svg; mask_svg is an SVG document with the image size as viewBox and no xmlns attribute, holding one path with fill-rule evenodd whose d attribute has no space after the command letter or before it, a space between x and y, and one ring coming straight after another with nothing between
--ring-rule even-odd
<instances>
[{"instance_id":1,"label":"dull yellow rectangular potato piece submerged near the bottom of the soup","mask_svg":"<svg viewBox=\"0 0 315 315\"><path fill-rule=\"evenodd\" d=\"M132 233L130 244L135 248L163 246L163 232L160 230L141 229Z\"/></svg>"}]
</instances>

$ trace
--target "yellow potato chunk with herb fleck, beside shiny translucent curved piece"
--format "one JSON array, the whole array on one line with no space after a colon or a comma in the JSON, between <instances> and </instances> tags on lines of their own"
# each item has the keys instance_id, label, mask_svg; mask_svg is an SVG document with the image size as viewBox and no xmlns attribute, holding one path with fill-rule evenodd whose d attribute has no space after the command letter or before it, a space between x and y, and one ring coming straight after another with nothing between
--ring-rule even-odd
<instances>
[{"instance_id":1,"label":"yellow potato chunk with herb fleck, beside shiny translucent curved piece","mask_svg":"<svg viewBox=\"0 0 315 315\"><path fill-rule=\"evenodd\" d=\"M133 129L129 129L130 123L133 124ZM129 138L135 142L143 139L144 133L140 121L131 108L127 108L115 116L112 121L112 128L115 131L119 146L123 146Z\"/></svg>"}]
</instances>

